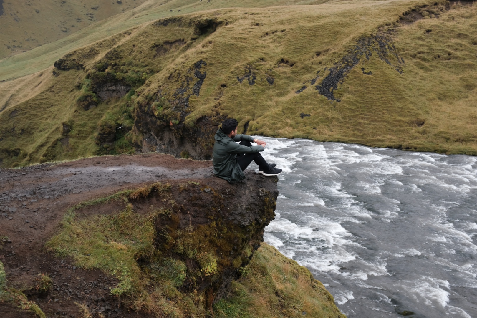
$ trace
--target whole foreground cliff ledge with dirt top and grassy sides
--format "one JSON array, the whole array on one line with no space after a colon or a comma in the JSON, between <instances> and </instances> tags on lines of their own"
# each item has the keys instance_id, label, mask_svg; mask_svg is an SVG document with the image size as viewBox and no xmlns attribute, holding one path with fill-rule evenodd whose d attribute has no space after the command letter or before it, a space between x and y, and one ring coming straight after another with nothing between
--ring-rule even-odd
<instances>
[{"instance_id":1,"label":"whole foreground cliff ledge with dirt top and grassy sides","mask_svg":"<svg viewBox=\"0 0 477 318\"><path fill-rule=\"evenodd\" d=\"M165 154L0 170L3 317L344 317L259 248L278 179L246 175Z\"/></svg>"}]
</instances>

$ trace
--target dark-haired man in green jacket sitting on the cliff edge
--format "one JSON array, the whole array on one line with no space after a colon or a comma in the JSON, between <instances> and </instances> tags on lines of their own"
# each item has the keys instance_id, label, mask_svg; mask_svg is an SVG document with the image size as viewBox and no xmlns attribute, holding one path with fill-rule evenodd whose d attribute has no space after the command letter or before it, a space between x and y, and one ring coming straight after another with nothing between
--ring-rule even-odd
<instances>
[{"instance_id":1,"label":"dark-haired man in green jacket sitting on the cliff edge","mask_svg":"<svg viewBox=\"0 0 477 318\"><path fill-rule=\"evenodd\" d=\"M265 150L266 142L253 139L249 135L238 135L237 126L239 122L235 119L226 119L215 134L215 144L213 149L214 174L227 180L237 182L245 179L243 171L254 161L259 166L259 172L266 176L277 175L281 169L275 168L276 164L268 164L260 154ZM237 144L236 142L240 142ZM252 146L251 143L256 143Z\"/></svg>"}]
</instances>

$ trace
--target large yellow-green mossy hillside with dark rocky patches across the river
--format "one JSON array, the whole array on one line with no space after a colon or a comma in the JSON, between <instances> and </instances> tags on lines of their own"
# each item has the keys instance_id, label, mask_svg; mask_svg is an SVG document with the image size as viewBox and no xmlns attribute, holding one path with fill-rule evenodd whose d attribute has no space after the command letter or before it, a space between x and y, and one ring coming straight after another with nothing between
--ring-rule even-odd
<instances>
[{"instance_id":1,"label":"large yellow-green mossy hillside with dark rocky patches across the river","mask_svg":"<svg viewBox=\"0 0 477 318\"><path fill-rule=\"evenodd\" d=\"M180 1L170 17L179 2L148 1L1 61L29 74L0 83L2 165L154 151L165 129L226 116L249 134L477 154L477 6L321 2Z\"/></svg>"}]
</instances>

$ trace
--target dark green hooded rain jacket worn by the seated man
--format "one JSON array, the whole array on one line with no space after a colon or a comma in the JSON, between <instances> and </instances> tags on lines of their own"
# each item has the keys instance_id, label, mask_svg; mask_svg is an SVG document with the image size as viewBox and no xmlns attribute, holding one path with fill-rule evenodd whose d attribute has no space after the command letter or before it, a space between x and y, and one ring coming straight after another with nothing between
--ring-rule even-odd
<instances>
[{"instance_id":1,"label":"dark green hooded rain jacket worn by the seated man","mask_svg":"<svg viewBox=\"0 0 477 318\"><path fill-rule=\"evenodd\" d=\"M230 183L245 179L245 174L236 160L237 154L253 154L265 150L260 145L248 147L237 144L236 142L244 140L252 143L253 138L249 135L235 135L232 139L222 131L222 128L218 129L214 139L215 144L212 150L214 174Z\"/></svg>"}]
</instances>

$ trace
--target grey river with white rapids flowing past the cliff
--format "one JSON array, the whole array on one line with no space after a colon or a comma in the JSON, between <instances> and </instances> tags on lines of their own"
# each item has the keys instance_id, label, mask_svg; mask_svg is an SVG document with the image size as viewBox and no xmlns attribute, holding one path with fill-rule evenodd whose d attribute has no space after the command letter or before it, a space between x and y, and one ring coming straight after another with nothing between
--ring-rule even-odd
<instances>
[{"instance_id":1,"label":"grey river with white rapids flowing past the cliff","mask_svg":"<svg viewBox=\"0 0 477 318\"><path fill-rule=\"evenodd\" d=\"M265 241L348 318L477 318L477 157L260 139L283 169Z\"/></svg>"}]
</instances>

